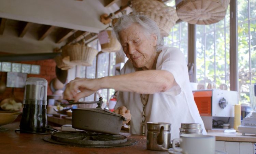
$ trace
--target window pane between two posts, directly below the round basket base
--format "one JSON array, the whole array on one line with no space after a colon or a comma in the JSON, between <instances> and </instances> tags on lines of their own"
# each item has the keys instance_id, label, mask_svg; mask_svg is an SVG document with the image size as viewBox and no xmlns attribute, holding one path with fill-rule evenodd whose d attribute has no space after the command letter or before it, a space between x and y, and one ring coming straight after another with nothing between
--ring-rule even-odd
<instances>
[{"instance_id":1,"label":"window pane between two posts, directly below the round basket base","mask_svg":"<svg viewBox=\"0 0 256 154\"><path fill-rule=\"evenodd\" d=\"M223 20L210 25L196 25L196 79L216 88L229 80L229 7Z\"/></svg>"}]
</instances>

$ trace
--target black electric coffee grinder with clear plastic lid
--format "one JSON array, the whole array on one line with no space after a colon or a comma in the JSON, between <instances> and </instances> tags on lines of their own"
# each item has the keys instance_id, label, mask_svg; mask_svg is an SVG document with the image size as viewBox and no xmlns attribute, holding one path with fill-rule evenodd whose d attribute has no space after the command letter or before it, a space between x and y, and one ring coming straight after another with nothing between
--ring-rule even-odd
<instances>
[{"instance_id":1,"label":"black electric coffee grinder with clear plastic lid","mask_svg":"<svg viewBox=\"0 0 256 154\"><path fill-rule=\"evenodd\" d=\"M19 129L21 133L50 134L47 131L49 127L47 127L46 98L47 80L35 77L27 78Z\"/></svg>"}]
</instances>

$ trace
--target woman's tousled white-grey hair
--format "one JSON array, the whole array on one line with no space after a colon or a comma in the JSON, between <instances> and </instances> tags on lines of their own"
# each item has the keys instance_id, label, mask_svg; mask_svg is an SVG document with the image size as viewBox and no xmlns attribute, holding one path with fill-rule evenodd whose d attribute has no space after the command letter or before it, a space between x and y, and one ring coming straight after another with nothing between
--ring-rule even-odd
<instances>
[{"instance_id":1,"label":"woman's tousled white-grey hair","mask_svg":"<svg viewBox=\"0 0 256 154\"><path fill-rule=\"evenodd\" d=\"M144 29L144 33L147 35L155 34L157 36L156 51L161 51L163 47L163 39L160 34L160 30L155 21L149 17L141 14L132 13L129 15L123 15L115 23L112 31L112 36L115 37L119 42L119 33L125 30L132 24L138 24Z\"/></svg>"}]
</instances>

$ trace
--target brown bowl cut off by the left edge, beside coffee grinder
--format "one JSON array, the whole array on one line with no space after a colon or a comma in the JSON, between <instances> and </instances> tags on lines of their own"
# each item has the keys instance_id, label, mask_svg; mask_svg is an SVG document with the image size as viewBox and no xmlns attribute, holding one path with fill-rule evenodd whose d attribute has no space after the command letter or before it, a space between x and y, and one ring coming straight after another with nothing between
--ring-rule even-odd
<instances>
[{"instance_id":1,"label":"brown bowl cut off by the left edge, beside coffee grinder","mask_svg":"<svg viewBox=\"0 0 256 154\"><path fill-rule=\"evenodd\" d=\"M22 112L0 111L0 126L12 123Z\"/></svg>"}]
</instances>

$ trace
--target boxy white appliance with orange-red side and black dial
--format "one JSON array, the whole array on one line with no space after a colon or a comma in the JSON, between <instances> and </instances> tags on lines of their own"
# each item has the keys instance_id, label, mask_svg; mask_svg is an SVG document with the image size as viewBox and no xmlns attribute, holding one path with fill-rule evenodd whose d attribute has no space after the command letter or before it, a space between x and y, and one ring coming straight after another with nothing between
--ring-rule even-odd
<instances>
[{"instance_id":1,"label":"boxy white appliance with orange-red side and black dial","mask_svg":"<svg viewBox=\"0 0 256 154\"><path fill-rule=\"evenodd\" d=\"M228 122L233 127L234 105L238 104L238 92L220 89L193 91L194 99L207 130L217 128L215 122Z\"/></svg>"}]
</instances>

